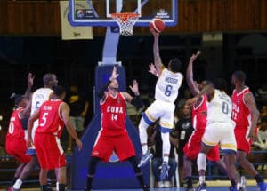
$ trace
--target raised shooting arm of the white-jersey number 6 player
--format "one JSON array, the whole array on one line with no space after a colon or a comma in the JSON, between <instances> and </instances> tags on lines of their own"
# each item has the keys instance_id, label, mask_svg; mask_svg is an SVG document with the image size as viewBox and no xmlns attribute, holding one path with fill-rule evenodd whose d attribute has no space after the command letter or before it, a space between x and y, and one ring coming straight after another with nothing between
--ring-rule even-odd
<instances>
[{"instance_id":1,"label":"raised shooting arm of the white-jersey number 6 player","mask_svg":"<svg viewBox=\"0 0 267 191\"><path fill-rule=\"evenodd\" d=\"M153 28L150 28L151 33L154 36L154 44L153 44L153 54L154 54L154 64L158 72L158 76L161 74L162 68L164 68L160 55L159 55L159 48L158 48L158 38L159 33L157 33Z\"/></svg>"}]
</instances>

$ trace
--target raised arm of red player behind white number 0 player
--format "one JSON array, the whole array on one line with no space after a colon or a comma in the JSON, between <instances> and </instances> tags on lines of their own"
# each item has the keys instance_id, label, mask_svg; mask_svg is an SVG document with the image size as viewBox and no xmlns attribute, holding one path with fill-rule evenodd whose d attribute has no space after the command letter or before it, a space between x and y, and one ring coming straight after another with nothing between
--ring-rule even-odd
<instances>
[{"instance_id":1,"label":"raised arm of red player behind white number 0 player","mask_svg":"<svg viewBox=\"0 0 267 191\"><path fill-rule=\"evenodd\" d=\"M188 67L186 70L186 82L189 86L190 92L192 93L193 96L196 96L199 93L199 89L196 86L193 78L193 63L194 60L196 60L201 52L198 51L196 54L193 54L190 57L190 61L188 63Z\"/></svg>"}]
</instances>

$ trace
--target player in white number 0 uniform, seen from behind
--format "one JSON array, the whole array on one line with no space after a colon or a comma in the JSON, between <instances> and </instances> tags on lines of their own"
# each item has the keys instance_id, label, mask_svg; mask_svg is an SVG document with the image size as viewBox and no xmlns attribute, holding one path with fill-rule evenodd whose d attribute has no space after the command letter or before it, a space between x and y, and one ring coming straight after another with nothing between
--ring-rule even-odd
<instances>
[{"instance_id":1,"label":"player in white number 0 uniform, seen from behind","mask_svg":"<svg viewBox=\"0 0 267 191\"><path fill-rule=\"evenodd\" d=\"M214 87L217 89L214 89ZM202 145L197 160L199 173L198 191L206 191L206 154L219 143L225 155L226 170L231 179L230 190L242 190L239 173L235 166L237 143L234 135L235 123L231 120L231 98L225 92L227 84L224 79L216 79L214 87L213 85L206 85L196 97L187 101L189 105L192 105L204 93L206 93L208 99L206 131L202 137Z\"/></svg>"}]
</instances>

